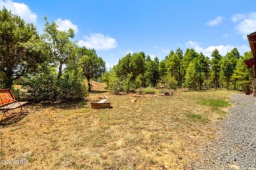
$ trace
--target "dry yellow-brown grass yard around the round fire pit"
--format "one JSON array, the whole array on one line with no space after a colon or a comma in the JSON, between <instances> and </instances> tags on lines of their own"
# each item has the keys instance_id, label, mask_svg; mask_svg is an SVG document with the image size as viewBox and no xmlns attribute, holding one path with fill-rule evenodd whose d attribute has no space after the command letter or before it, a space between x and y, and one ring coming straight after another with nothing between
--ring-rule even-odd
<instances>
[{"instance_id":1,"label":"dry yellow-brown grass yard around the round fire pit","mask_svg":"<svg viewBox=\"0 0 256 170\"><path fill-rule=\"evenodd\" d=\"M132 93L94 85L86 101L37 104L20 122L0 126L0 169L189 169L201 157L198 146L216 137L234 93L177 90L133 103ZM113 109L91 109L90 100L102 95Z\"/></svg>"}]
</instances>

